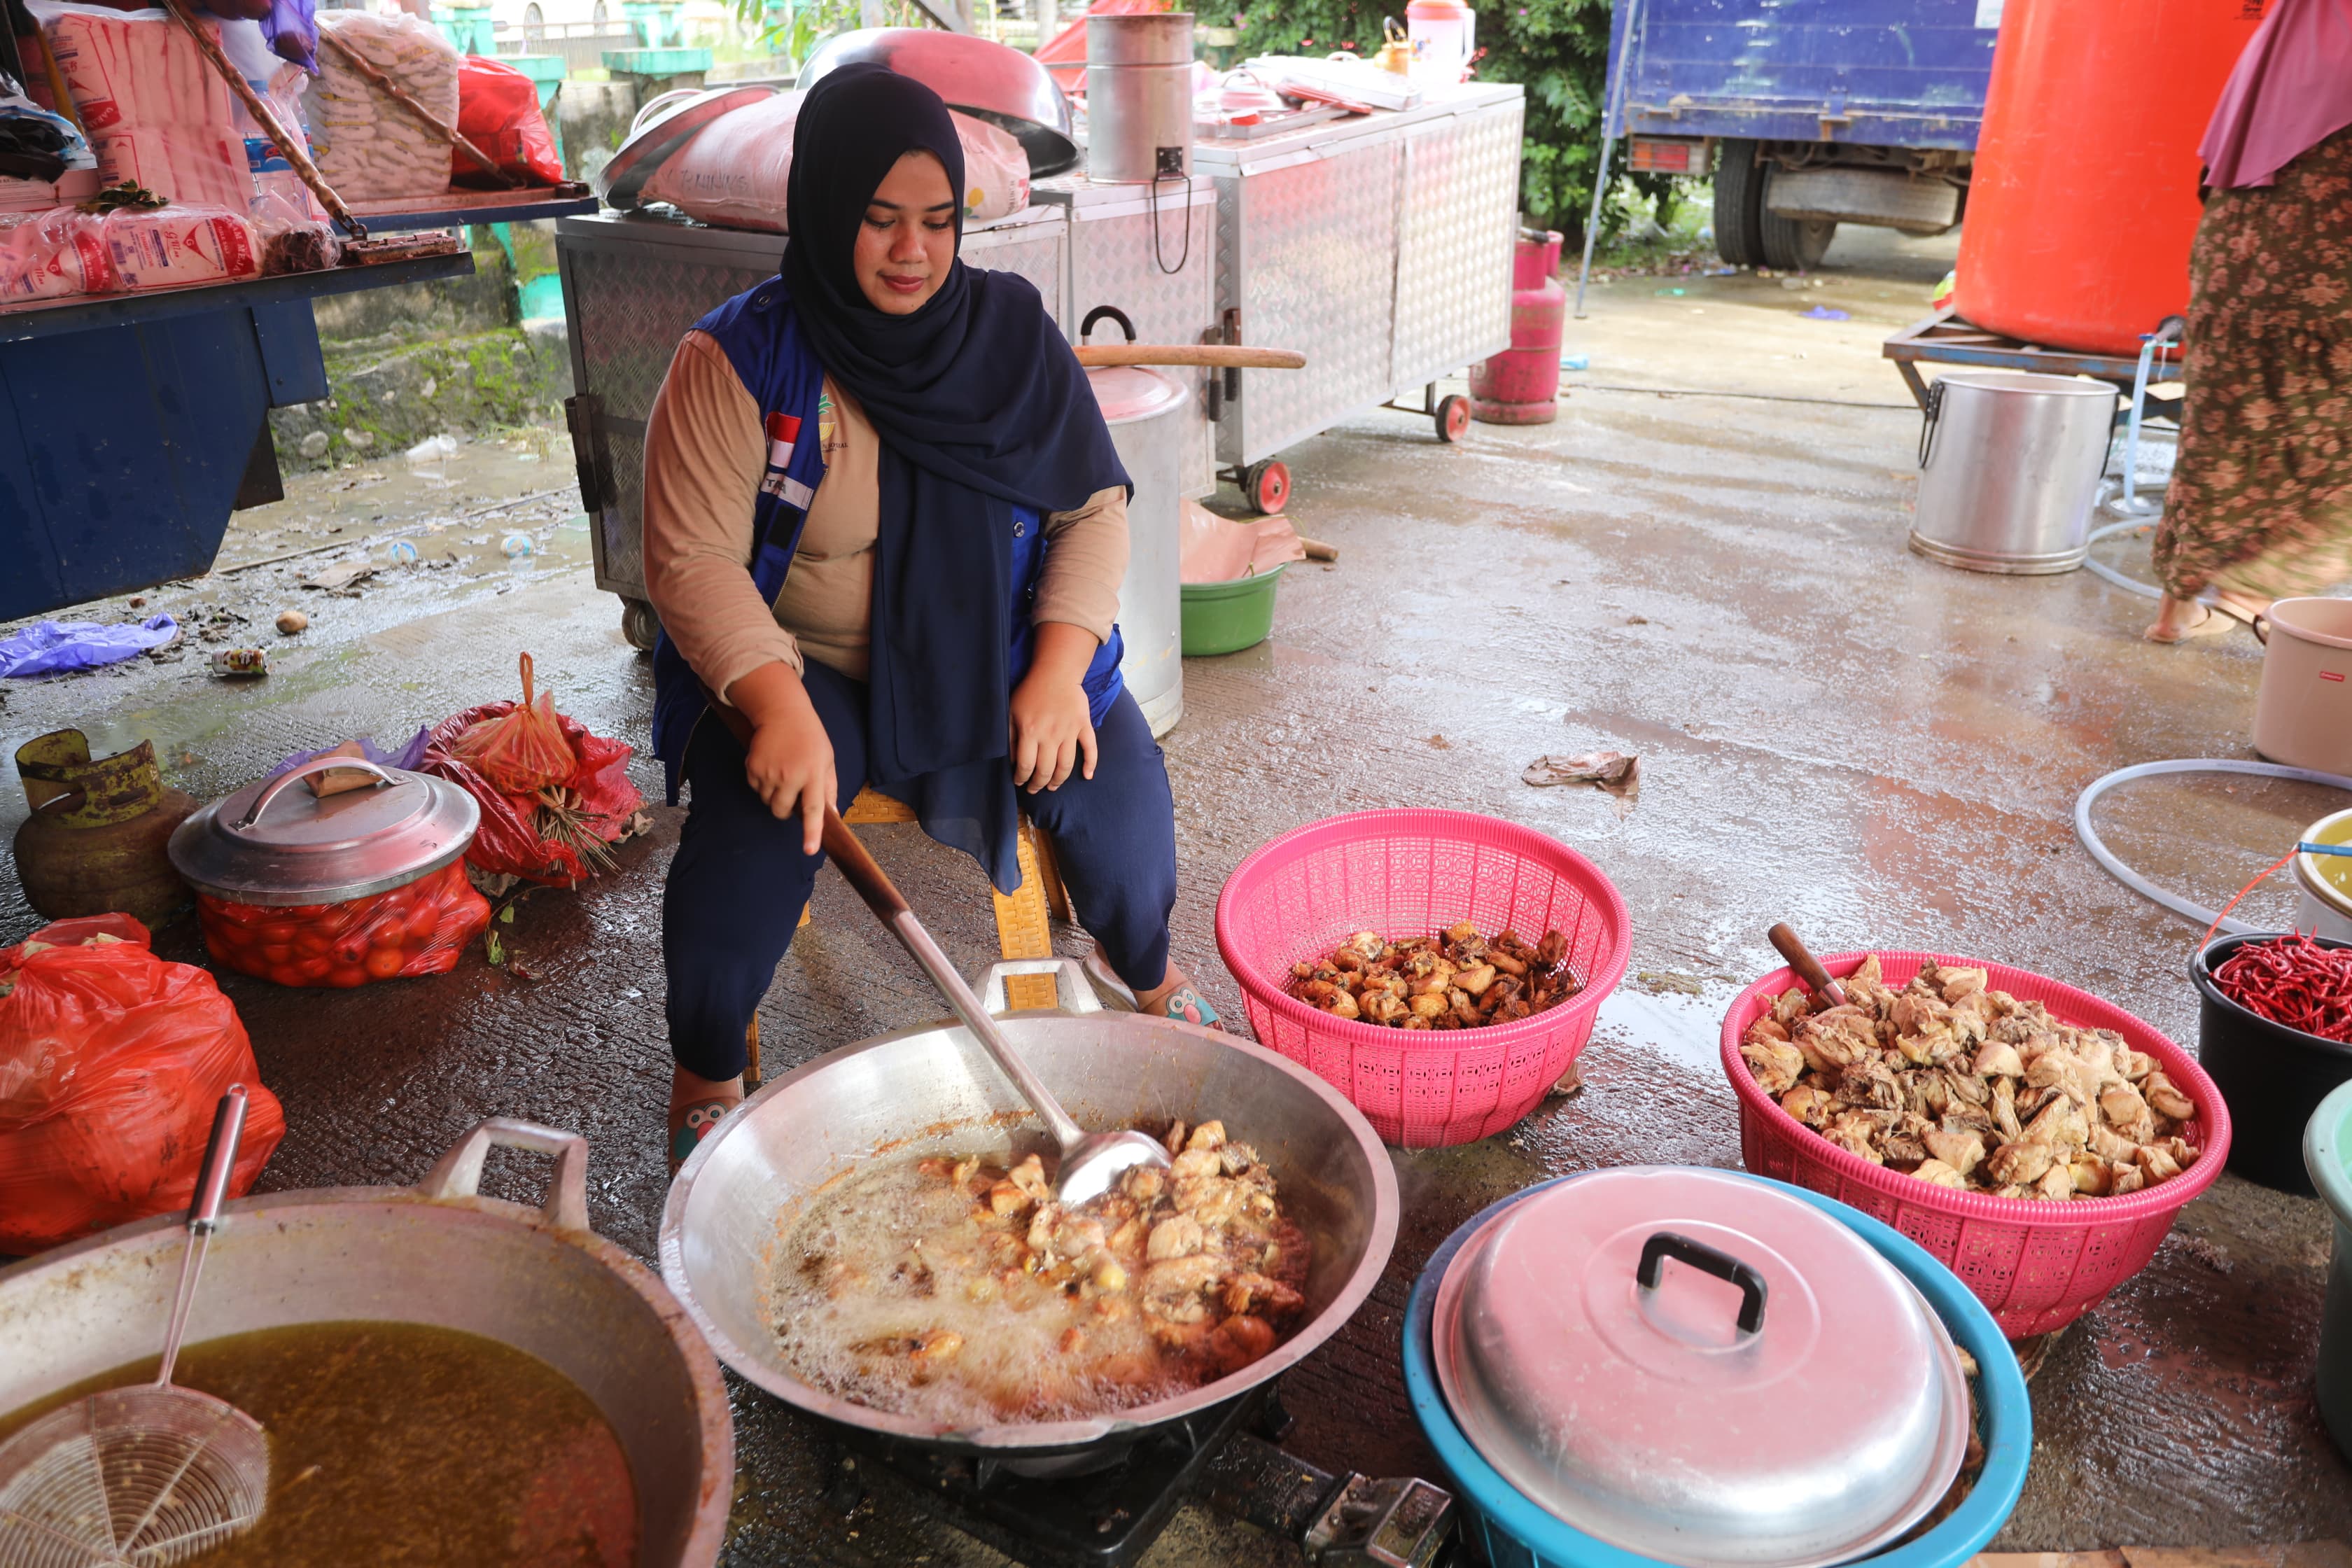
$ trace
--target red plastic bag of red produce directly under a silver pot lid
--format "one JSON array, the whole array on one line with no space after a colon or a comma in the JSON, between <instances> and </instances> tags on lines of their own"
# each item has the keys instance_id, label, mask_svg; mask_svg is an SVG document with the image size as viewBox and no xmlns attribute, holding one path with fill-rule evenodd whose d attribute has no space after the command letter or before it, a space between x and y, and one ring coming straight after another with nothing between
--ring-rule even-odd
<instances>
[{"instance_id":1,"label":"red plastic bag of red produce directly under a silver pot lid","mask_svg":"<svg viewBox=\"0 0 2352 1568\"><path fill-rule=\"evenodd\" d=\"M195 896L205 952L278 985L367 985L456 969L466 943L489 926L489 900L452 860L367 898L261 905Z\"/></svg>"}]
</instances>

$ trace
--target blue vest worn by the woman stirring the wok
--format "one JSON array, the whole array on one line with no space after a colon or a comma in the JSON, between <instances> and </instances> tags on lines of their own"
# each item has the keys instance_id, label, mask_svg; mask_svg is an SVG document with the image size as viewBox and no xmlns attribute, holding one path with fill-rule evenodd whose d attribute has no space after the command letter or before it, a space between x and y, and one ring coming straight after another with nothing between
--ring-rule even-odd
<instances>
[{"instance_id":1,"label":"blue vest worn by the woman stirring the wok","mask_svg":"<svg viewBox=\"0 0 2352 1568\"><path fill-rule=\"evenodd\" d=\"M816 435L816 409L826 393L826 369L800 331L800 315L783 289L781 277L769 277L757 289L736 294L724 306L694 322L694 331L708 334L734 364L743 388L760 404L760 421L767 430L767 473L760 480L760 496L753 501L753 555L750 578L760 597L769 604L783 592L783 578L793 569L793 552L800 548L800 531L809 522L809 501L826 477L823 442ZM1035 510L1014 508L1011 552L1011 654L1007 670L1018 684L1028 675L1037 651L1037 628L1030 616L1037 602L1037 578L1044 574L1044 527ZM978 623L974 637L981 637ZM1127 689L1120 677L1120 658L1127 644L1120 628L1110 628L1110 639L1096 649L1087 665L1087 703L1094 724L1110 712L1110 703ZM694 670L677 644L663 632L654 642L654 755L661 757L668 802L677 804L680 769L687 759L687 741L703 717L708 701ZM1009 769L1009 764L1007 764ZM875 785L913 785L917 780L882 780ZM917 790L920 792L920 790ZM988 860L1011 863L1011 844L993 846L1002 856ZM995 870L993 870L995 875ZM1018 879L1018 875L1016 875ZM1000 877L1002 884L1002 877Z\"/></svg>"}]
</instances>

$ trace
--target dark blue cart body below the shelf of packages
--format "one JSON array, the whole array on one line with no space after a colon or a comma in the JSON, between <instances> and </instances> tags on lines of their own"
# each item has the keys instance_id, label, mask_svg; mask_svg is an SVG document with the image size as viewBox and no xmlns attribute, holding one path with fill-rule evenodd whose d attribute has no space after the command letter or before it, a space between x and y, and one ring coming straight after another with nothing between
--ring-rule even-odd
<instances>
[{"instance_id":1,"label":"dark blue cart body below the shelf of packages","mask_svg":"<svg viewBox=\"0 0 2352 1568\"><path fill-rule=\"evenodd\" d=\"M0 310L0 621L198 576L278 501L268 411L327 395L325 294L473 256L96 294Z\"/></svg>"}]
</instances>

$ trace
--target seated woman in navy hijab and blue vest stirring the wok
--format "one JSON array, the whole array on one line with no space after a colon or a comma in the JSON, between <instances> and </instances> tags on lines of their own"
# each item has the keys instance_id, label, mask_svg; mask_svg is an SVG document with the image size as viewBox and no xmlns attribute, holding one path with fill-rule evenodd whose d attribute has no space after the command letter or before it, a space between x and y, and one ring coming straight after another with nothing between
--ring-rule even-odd
<instances>
[{"instance_id":1,"label":"seated woman in navy hijab and blue vest stirring the wok","mask_svg":"<svg viewBox=\"0 0 2352 1568\"><path fill-rule=\"evenodd\" d=\"M1174 799L1120 682L1127 473L1037 289L957 259L962 188L929 87L826 75L783 270L687 334L647 421L654 750L691 785L661 910L673 1164L743 1098L826 804L866 783L1004 891L1025 809L1089 969L1216 1023L1169 964Z\"/></svg>"}]
</instances>

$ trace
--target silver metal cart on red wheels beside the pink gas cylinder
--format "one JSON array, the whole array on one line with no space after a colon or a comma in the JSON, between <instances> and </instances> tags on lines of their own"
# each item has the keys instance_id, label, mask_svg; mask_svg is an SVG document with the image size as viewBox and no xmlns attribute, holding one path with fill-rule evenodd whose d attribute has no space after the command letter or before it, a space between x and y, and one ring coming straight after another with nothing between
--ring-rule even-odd
<instances>
[{"instance_id":1,"label":"silver metal cart on red wheels beside the pink gas cylinder","mask_svg":"<svg viewBox=\"0 0 2352 1568\"><path fill-rule=\"evenodd\" d=\"M1216 183L1225 341L1308 355L1303 371L1225 381L1216 456L1244 470L1254 503L1289 489L1272 454L1416 388L1439 437L1461 435L1468 404L1439 404L1435 383L1510 348L1524 108L1519 87L1472 82L1195 146L1192 169Z\"/></svg>"}]
</instances>

